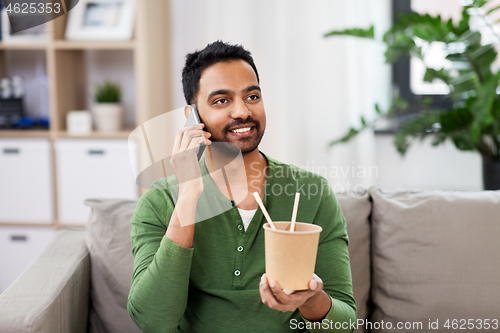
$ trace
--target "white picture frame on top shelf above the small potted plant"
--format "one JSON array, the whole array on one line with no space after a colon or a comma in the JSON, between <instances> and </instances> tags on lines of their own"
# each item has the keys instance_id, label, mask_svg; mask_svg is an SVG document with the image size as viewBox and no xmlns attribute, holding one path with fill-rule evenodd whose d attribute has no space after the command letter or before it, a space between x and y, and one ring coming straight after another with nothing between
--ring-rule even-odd
<instances>
[{"instance_id":1,"label":"white picture frame on top shelf above the small potted plant","mask_svg":"<svg viewBox=\"0 0 500 333\"><path fill-rule=\"evenodd\" d=\"M80 0L68 13L68 40L130 40L133 37L136 0Z\"/></svg>"}]
</instances>

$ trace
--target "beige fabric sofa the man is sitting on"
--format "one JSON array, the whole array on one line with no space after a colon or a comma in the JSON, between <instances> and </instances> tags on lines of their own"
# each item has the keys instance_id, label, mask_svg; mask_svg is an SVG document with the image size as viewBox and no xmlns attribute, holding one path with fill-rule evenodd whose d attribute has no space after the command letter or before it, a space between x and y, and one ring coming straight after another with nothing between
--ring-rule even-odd
<instances>
[{"instance_id":1,"label":"beige fabric sofa the man is sitting on","mask_svg":"<svg viewBox=\"0 0 500 333\"><path fill-rule=\"evenodd\" d=\"M372 187L337 199L356 332L500 331L500 191ZM58 231L0 296L0 332L139 332L126 309L136 202L87 199L86 231Z\"/></svg>"}]
</instances>

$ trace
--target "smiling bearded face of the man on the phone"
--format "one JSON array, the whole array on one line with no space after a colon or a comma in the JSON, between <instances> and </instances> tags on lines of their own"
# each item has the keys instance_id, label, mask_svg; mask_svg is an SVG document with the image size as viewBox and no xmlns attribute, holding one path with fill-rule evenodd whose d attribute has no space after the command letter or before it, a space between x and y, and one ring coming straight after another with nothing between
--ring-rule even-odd
<instances>
[{"instance_id":1,"label":"smiling bearded face of the man on the phone","mask_svg":"<svg viewBox=\"0 0 500 333\"><path fill-rule=\"evenodd\" d=\"M205 69L196 104L211 141L234 143L243 154L258 147L266 113L257 76L247 62L219 62Z\"/></svg>"}]
</instances>

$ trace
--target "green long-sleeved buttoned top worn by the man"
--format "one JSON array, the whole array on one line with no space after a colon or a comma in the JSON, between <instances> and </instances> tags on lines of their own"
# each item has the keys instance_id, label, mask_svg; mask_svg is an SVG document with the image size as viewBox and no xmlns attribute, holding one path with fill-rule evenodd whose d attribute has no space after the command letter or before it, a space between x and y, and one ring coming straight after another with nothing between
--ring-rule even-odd
<instances>
[{"instance_id":1,"label":"green long-sleeved buttoned top worn by the man","mask_svg":"<svg viewBox=\"0 0 500 333\"><path fill-rule=\"evenodd\" d=\"M205 187L197 216L213 217L195 224L193 248L165 237L176 202L175 178L153 183L135 209L134 273L127 308L143 332L352 331L331 329L336 322L356 321L346 222L335 195L324 178L264 156L269 171L263 202L271 218L290 221L295 192L300 191L297 221L323 228L315 273L332 299L328 325L323 326L330 328L307 329L312 323L299 310L282 313L262 303L265 218L258 209L245 231L234 201L206 177L202 160Z\"/></svg>"}]
</instances>

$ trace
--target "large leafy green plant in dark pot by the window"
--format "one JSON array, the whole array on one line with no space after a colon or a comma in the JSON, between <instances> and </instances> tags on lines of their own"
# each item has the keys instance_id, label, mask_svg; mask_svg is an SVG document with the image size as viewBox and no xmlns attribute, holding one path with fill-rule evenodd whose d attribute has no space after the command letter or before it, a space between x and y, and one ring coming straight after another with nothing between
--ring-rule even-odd
<instances>
[{"instance_id":1,"label":"large leafy green plant in dark pot by the window","mask_svg":"<svg viewBox=\"0 0 500 333\"><path fill-rule=\"evenodd\" d=\"M394 145L404 155L411 142L427 135L433 136L433 146L451 140L459 150L477 151L483 161L483 182L487 190L500 189L500 71L493 72L491 64L497 57L493 44L482 43L480 31L470 29L472 17L481 20L497 40L489 16L500 7L489 10L487 1L470 0L463 6L460 22L451 19L418 13L401 14L397 22L384 34L387 46L386 62L393 63L403 55L416 56L423 60L423 42L444 43L446 59L451 67L426 68L424 81L441 80L450 87L452 106L432 108L422 102L418 115L403 124L396 132ZM374 38L373 26L369 29L347 29L332 31L325 36L349 35ZM397 97L397 96L396 96ZM375 105L379 116L390 116L404 101L396 98L389 111ZM380 117L379 117L380 118ZM361 118L361 126L350 128L344 136L330 142L330 146L347 142L363 129L373 127L377 121Z\"/></svg>"}]
</instances>

